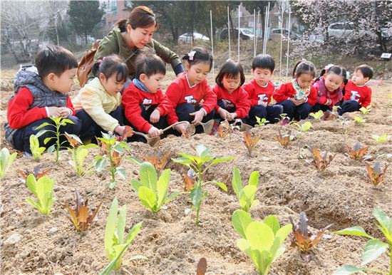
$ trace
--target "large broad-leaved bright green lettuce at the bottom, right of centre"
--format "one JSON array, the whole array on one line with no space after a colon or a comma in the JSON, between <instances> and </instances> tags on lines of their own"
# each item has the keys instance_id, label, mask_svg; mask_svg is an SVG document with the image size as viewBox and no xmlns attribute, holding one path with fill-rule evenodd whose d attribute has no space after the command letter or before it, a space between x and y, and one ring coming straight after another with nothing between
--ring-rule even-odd
<instances>
[{"instance_id":1,"label":"large broad-leaved bright green lettuce at the bottom, right of centre","mask_svg":"<svg viewBox=\"0 0 392 275\"><path fill-rule=\"evenodd\" d=\"M279 220L272 215L263 222L254 221L247 212L236 210L232 226L242 237L237 239L237 247L252 260L259 274L267 275L272 263L284 253L284 240L292 224L280 227Z\"/></svg>"}]
</instances>

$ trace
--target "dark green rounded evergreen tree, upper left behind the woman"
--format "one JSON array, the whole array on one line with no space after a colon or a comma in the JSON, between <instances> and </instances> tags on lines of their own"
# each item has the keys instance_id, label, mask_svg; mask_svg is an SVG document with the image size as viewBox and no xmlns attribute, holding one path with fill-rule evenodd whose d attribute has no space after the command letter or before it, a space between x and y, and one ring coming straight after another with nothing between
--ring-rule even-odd
<instances>
[{"instance_id":1,"label":"dark green rounded evergreen tree, upper left behind the woman","mask_svg":"<svg viewBox=\"0 0 392 275\"><path fill-rule=\"evenodd\" d=\"M104 14L100 9L99 1L70 1L68 16L74 30L83 35L87 44L87 35L93 31L94 26L100 22Z\"/></svg>"}]
</instances>

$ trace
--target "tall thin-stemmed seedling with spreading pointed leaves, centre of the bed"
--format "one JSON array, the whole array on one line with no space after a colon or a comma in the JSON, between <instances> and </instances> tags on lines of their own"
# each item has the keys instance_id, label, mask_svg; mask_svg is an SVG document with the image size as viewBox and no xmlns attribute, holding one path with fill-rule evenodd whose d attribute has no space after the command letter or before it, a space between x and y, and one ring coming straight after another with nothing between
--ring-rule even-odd
<instances>
[{"instance_id":1,"label":"tall thin-stemmed seedling with spreading pointed leaves, centre of the bed","mask_svg":"<svg viewBox=\"0 0 392 275\"><path fill-rule=\"evenodd\" d=\"M197 180L195 180L195 184L190 190L190 199L192 201L193 207L196 209L196 225L199 224L199 214L202 202L208 196L207 191L203 190L203 187L211 183L217 185L222 190L225 190L227 192L227 187L223 182L217 182L215 180L205 182L205 173L212 165L234 159L234 157L212 157L212 155L210 155L211 149L212 148L207 148L204 145L197 145L197 155L188 155L183 152L180 152L179 155L181 157L172 159L173 162L180 163L192 169L195 173L195 177L197 177Z\"/></svg>"}]
</instances>

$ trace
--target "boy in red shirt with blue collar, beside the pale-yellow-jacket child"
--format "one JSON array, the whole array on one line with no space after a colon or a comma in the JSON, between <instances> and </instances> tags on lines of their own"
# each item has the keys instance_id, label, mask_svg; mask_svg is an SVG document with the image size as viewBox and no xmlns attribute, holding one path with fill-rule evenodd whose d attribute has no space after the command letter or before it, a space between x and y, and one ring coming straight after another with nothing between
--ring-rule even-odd
<instances>
[{"instance_id":1,"label":"boy in red shirt with blue collar, beside the pale-yellow-jacket child","mask_svg":"<svg viewBox=\"0 0 392 275\"><path fill-rule=\"evenodd\" d=\"M135 69L135 78L123 94L125 124L156 137L161 134L160 129L165 128L165 115L172 108L160 89L166 74L165 63L159 56L145 53L136 59ZM133 140L135 137L140 138L134 135Z\"/></svg>"}]
</instances>

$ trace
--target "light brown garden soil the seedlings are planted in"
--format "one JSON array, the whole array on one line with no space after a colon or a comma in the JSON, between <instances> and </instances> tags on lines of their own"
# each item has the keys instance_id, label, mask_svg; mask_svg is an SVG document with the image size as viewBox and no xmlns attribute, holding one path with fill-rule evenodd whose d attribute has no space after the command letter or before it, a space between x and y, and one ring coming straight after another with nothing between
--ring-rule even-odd
<instances>
[{"instance_id":1,"label":"light brown garden soil the seedlings are planted in","mask_svg":"<svg viewBox=\"0 0 392 275\"><path fill-rule=\"evenodd\" d=\"M167 83L174 78L167 77ZM249 77L247 78L249 79ZM210 80L212 83L212 79ZM373 85L373 109L363 115L366 123L355 125L353 117L359 113L344 115L351 123L342 127L341 120L314 121L314 128L301 140L293 141L289 147L279 145L274 136L279 125L265 125L252 129L252 133L261 134L261 140L250 156L242 135L232 134L227 137L212 135L194 135L189 139L169 136L155 147L140 142L130 143L128 155L140 158L140 155L152 152L169 151L172 157L178 152L195 154L195 147L203 144L212 147L215 157L234 156L235 159L214 165L207 172L207 180L225 182L228 192L207 185L209 193L200 211L201 224L195 226L195 211L186 214L190 208L189 195L182 194L162 209L152 214L142 206L138 196L130 187L130 180L138 177L138 166L128 159L122 166L127 172L126 180L118 179L113 190L108 189L110 172L93 173L78 177L68 164L70 155L61 152L60 162L54 162L54 156L45 154L36 162L19 157L6 177L0 182L1 192L1 274L98 274L108 264L103 246L105 222L108 209L114 197L119 204L127 207L127 229L137 222L143 222L138 237L133 241L123 258L119 274L195 274L197 261L207 259L207 274L257 274L252 261L237 248L239 235L231 224L232 213L239 208L237 198L232 192L232 169L238 167L243 181L247 182L252 171L259 171L260 185L257 199L260 204L252 208L253 219L264 219L274 214L281 225L289 223L289 217L298 221L299 213L304 211L309 217L312 232L333 224L331 231L359 225L374 237L382 238L374 225L373 207L378 206L392 217L392 177L391 171L378 187L373 187L366 175L364 162L351 160L346 155L346 145L353 147L358 140L362 145L370 146L368 152L381 166L391 164L391 140L378 145L371 135L392 135L391 82ZM12 88L12 85L10 85ZM6 119L6 100L13 92L1 88L1 125ZM77 90L76 86L74 90ZM302 122L301 122L302 123ZM282 130L291 129L296 133L295 125L288 125ZM316 172L313 166L305 162L311 159L309 150L302 147L298 157L298 148L316 145L322 151L335 155L326 172ZM7 146L1 136L1 147ZM92 149L88 162L98 155ZM43 217L25 201L31 193L21 182L18 170L32 170L41 165L50 169L48 176L56 179L51 214ZM169 162L172 170L170 190L182 190L182 165ZM74 204L74 192L79 190L82 197L88 197L93 209L103 202L98 214L98 221L91 228L80 234L75 231L67 217L64 204ZM12 234L19 234L21 239L15 244L6 240ZM331 234L330 239L323 239L311 251L311 261L305 263L299 252L290 247L289 239L285 253L272 264L270 274L332 274L344 264L361 264L361 252L366 239L344 237ZM130 261L131 256L143 255L148 259ZM386 254L368 266L388 270Z\"/></svg>"}]
</instances>

